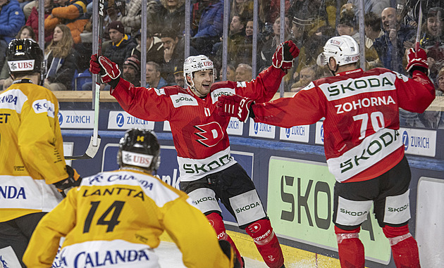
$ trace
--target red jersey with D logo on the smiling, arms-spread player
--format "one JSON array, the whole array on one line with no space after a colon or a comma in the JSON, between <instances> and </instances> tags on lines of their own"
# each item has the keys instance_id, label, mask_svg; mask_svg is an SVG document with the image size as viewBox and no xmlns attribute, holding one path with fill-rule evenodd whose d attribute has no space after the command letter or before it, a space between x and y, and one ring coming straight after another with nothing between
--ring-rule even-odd
<instances>
[{"instance_id":1,"label":"red jersey with D logo on the smiling, arms-spread player","mask_svg":"<svg viewBox=\"0 0 444 268\"><path fill-rule=\"evenodd\" d=\"M190 88L147 89L120 79L111 95L130 115L170 122L180 181L193 181L235 164L226 132L230 117L218 115L218 96L239 94L258 103L266 102L276 94L284 75L283 70L271 66L251 82L216 82L205 98L199 98Z\"/></svg>"}]
</instances>

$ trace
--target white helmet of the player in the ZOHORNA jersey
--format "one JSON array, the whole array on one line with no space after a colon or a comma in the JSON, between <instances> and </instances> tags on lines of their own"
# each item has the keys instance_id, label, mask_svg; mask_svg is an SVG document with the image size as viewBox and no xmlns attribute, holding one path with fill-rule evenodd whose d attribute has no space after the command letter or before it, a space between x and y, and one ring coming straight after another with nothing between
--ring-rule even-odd
<instances>
[{"instance_id":1,"label":"white helmet of the player in the ZOHORNA jersey","mask_svg":"<svg viewBox=\"0 0 444 268\"><path fill-rule=\"evenodd\" d=\"M350 35L332 37L323 46L323 52L319 54L316 63L319 66L326 65L331 57L338 66L356 63L359 60L359 45Z\"/></svg>"}]
</instances>

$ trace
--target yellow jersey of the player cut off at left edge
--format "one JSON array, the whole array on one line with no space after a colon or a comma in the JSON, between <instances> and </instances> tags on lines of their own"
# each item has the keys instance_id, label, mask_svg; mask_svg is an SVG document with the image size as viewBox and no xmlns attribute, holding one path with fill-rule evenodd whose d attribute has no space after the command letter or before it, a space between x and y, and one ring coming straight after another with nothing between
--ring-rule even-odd
<instances>
[{"instance_id":1,"label":"yellow jersey of the player cut off at left edge","mask_svg":"<svg viewBox=\"0 0 444 268\"><path fill-rule=\"evenodd\" d=\"M0 222L49 212L66 179L56 96L30 79L0 94Z\"/></svg>"}]
</instances>

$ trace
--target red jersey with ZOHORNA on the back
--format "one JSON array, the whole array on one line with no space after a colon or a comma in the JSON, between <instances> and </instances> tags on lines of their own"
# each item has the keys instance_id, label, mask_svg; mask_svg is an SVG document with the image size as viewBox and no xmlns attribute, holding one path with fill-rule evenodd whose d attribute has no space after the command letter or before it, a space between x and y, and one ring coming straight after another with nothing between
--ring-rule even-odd
<instances>
[{"instance_id":1,"label":"red jersey with ZOHORNA on the back","mask_svg":"<svg viewBox=\"0 0 444 268\"><path fill-rule=\"evenodd\" d=\"M337 181L373 179L404 156L399 108L423 113L435 98L430 79L375 68L318 79L292 98L252 106L255 122L279 127L323 120L328 170Z\"/></svg>"}]
</instances>

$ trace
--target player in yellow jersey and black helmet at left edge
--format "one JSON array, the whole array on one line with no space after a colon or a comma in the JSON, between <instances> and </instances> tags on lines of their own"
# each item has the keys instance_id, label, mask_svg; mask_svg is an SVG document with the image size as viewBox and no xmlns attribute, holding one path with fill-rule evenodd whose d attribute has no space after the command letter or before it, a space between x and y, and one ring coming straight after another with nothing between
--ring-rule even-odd
<instances>
[{"instance_id":1,"label":"player in yellow jersey and black helmet at left edge","mask_svg":"<svg viewBox=\"0 0 444 268\"><path fill-rule=\"evenodd\" d=\"M32 39L13 39L6 53L13 84L0 94L0 258L11 265L61 201L56 186L77 181L63 158L57 98L39 86L42 49Z\"/></svg>"}]
</instances>

